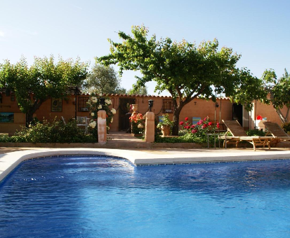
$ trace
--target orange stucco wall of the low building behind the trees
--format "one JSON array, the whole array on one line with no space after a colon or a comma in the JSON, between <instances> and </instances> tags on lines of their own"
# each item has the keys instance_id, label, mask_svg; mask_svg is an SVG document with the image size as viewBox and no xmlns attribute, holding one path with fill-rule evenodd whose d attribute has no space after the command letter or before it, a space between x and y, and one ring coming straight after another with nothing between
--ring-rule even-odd
<instances>
[{"instance_id":1,"label":"orange stucco wall of the low building behind the trees","mask_svg":"<svg viewBox=\"0 0 290 238\"><path fill-rule=\"evenodd\" d=\"M13 133L15 130L20 130L21 126L25 126L25 114L20 112L17 102L11 102L11 97L6 97L5 94L1 94L2 102L0 103L0 112L13 112L14 113L14 123L0 123L0 133ZM39 120L53 120L55 117L60 120L60 117L63 116L65 120L70 120L74 118L75 115L75 101L74 95L69 96L69 100L62 100L62 111L61 112L52 112L51 111L51 99L46 100L41 107L34 114ZM79 102L79 97L89 97L87 94L78 95L77 102ZM158 121L158 116L162 116L162 106L163 99L171 99L170 97L159 97L159 96L128 96L128 95L118 95L110 94L106 97L109 97L112 100L112 105L110 108L117 110L117 113L114 115L114 121L110 125L111 131L119 130L119 103L120 98L131 98L136 100L138 104L138 113L143 115L148 110L148 100L154 100L154 106L152 112L155 115L155 119ZM209 116L211 121L215 118L216 111L216 121L220 119L223 120L232 120L232 103L229 99L221 100L221 111L220 111L220 100L218 99L219 107L216 108L214 102L206 102L202 99L194 99L189 104L185 105L183 110L180 113L180 121L184 120L185 117L200 117L205 118ZM78 110L79 104L77 104L77 116L90 116L89 112L81 112ZM284 113L286 109L282 110ZM252 115L255 115L252 112ZM268 118L268 121L272 121L278 124L281 124L279 116L275 112L275 109L271 105L265 105L258 102L256 104L256 116L261 115L263 118ZM169 117L173 118L173 113L169 113ZM252 116L253 118L253 116ZM246 127L246 126L245 126ZM252 123L253 127L253 123Z\"/></svg>"}]
</instances>

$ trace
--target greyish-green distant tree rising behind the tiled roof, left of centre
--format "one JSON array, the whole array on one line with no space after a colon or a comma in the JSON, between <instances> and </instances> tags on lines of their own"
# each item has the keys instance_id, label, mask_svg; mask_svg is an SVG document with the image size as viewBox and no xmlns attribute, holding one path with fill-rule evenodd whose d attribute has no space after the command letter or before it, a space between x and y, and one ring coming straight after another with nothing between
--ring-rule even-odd
<instances>
[{"instance_id":1,"label":"greyish-green distant tree rising behind the tiled roof, left of centre","mask_svg":"<svg viewBox=\"0 0 290 238\"><path fill-rule=\"evenodd\" d=\"M84 82L84 90L95 94L125 94L126 89L120 87L117 73L110 66L95 64L92 72Z\"/></svg>"}]
</instances>

